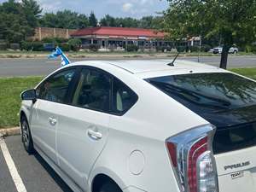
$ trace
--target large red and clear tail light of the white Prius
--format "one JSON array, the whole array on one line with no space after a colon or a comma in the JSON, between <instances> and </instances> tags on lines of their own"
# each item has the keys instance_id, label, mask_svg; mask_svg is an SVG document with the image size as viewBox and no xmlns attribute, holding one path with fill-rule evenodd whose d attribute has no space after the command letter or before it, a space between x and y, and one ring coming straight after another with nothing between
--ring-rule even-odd
<instances>
[{"instance_id":1,"label":"large red and clear tail light of the white Prius","mask_svg":"<svg viewBox=\"0 0 256 192\"><path fill-rule=\"evenodd\" d=\"M212 138L215 127L204 125L166 140L166 148L182 192L218 192Z\"/></svg>"}]
</instances>

